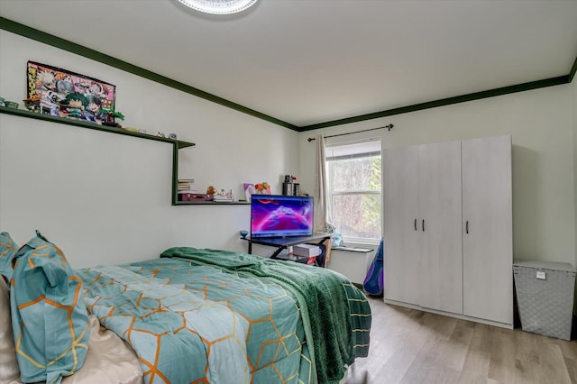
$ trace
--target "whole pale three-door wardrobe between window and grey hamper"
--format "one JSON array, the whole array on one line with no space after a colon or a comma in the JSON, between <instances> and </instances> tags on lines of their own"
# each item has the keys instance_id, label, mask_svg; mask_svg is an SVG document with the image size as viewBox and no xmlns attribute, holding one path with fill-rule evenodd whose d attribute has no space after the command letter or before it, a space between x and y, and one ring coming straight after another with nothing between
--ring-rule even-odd
<instances>
[{"instance_id":1,"label":"whole pale three-door wardrobe between window and grey hamper","mask_svg":"<svg viewBox=\"0 0 577 384\"><path fill-rule=\"evenodd\" d=\"M511 137L383 153L384 299L512 328Z\"/></svg>"}]
</instances>

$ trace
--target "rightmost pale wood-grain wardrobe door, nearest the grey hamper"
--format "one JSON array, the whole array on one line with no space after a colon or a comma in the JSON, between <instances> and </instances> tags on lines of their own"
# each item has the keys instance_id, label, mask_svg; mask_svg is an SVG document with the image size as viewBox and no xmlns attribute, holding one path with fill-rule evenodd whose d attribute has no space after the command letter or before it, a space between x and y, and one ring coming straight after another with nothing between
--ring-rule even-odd
<instances>
[{"instance_id":1,"label":"rightmost pale wood-grain wardrobe door, nearest the grey hamper","mask_svg":"<svg viewBox=\"0 0 577 384\"><path fill-rule=\"evenodd\" d=\"M463 142L463 313L513 324L511 137Z\"/></svg>"}]
</instances>

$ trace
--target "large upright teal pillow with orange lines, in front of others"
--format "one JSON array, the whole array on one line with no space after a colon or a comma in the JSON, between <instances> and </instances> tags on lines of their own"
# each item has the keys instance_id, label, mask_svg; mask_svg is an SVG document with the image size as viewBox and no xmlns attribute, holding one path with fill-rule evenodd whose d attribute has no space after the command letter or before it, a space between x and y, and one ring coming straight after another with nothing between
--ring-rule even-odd
<instances>
[{"instance_id":1,"label":"large upright teal pillow with orange lines, in front of others","mask_svg":"<svg viewBox=\"0 0 577 384\"><path fill-rule=\"evenodd\" d=\"M82 282L40 233L17 251L10 298L23 382L60 383L82 367L90 323Z\"/></svg>"}]
</instances>

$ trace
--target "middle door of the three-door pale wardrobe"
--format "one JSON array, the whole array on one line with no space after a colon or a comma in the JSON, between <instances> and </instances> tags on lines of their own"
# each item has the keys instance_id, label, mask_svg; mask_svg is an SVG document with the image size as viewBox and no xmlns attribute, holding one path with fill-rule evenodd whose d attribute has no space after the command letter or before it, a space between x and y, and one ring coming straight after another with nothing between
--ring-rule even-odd
<instances>
[{"instance_id":1,"label":"middle door of the three-door pale wardrobe","mask_svg":"<svg viewBox=\"0 0 577 384\"><path fill-rule=\"evenodd\" d=\"M421 306L463 314L461 142L420 147Z\"/></svg>"}]
</instances>

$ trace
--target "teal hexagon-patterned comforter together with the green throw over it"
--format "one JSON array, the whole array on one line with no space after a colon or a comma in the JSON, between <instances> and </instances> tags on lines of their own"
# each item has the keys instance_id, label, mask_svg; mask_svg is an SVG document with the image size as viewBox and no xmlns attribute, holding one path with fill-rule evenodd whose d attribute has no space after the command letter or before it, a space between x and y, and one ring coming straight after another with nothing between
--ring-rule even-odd
<instances>
[{"instance_id":1,"label":"teal hexagon-patterned comforter together with the green throw over it","mask_svg":"<svg viewBox=\"0 0 577 384\"><path fill-rule=\"evenodd\" d=\"M368 353L366 298L330 270L172 248L78 275L88 309L131 343L146 382L335 382Z\"/></svg>"}]
</instances>

